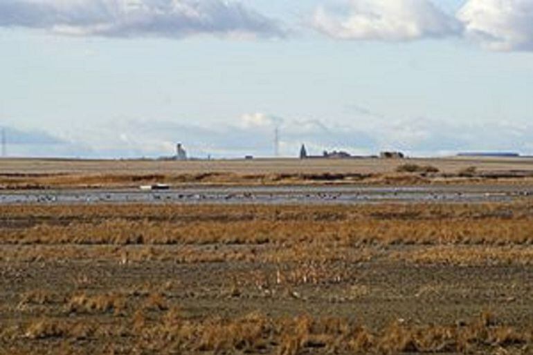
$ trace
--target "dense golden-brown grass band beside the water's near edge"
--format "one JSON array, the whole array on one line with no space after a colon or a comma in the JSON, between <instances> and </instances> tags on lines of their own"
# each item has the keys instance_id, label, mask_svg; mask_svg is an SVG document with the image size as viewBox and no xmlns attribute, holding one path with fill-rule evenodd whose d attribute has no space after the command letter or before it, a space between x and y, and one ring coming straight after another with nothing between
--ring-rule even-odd
<instances>
[{"instance_id":1,"label":"dense golden-brown grass band beside the water's near edge","mask_svg":"<svg viewBox=\"0 0 533 355\"><path fill-rule=\"evenodd\" d=\"M0 207L2 244L530 245L533 205ZM28 218L28 216L32 216ZM333 252L333 251L332 251ZM311 250L308 250L311 253Z\"/></svg>"}]
</instances>

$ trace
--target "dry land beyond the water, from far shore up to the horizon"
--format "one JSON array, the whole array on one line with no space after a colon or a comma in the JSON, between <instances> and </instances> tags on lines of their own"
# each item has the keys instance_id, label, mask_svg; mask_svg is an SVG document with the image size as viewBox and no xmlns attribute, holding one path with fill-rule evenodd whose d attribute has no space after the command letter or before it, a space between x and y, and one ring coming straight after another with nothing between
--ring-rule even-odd
<instances>
[{"instance_id":1,"label":"dry land beyond the water, from far shore up to the horizon","mask_svg":"<svg viewBox=\"0 0 533 355\"><path fill-rule=\"evenodd\" d=\"M0 189L183 184L533 183L533 158L217 161L0 160Z\"/></svg>"}]
</instances>

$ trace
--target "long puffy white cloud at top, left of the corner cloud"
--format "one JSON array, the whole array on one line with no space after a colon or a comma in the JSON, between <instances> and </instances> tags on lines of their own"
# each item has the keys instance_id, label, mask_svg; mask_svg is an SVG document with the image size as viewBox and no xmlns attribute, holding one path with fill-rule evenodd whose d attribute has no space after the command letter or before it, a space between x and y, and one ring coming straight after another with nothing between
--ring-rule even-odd
<instances>
[{"instance_id":1,"label":"long puffy white cloud at top, left of the corner cloud","mask_svg":"<svg viewBox=\"0 0 533 355\"><path fill-rule=\"evenodd\" d=\"M318 7L316 30L336 39L409 41L461 32L460 23L429 0L350 0L345 8Z\"/></svg>"}]
</instances>

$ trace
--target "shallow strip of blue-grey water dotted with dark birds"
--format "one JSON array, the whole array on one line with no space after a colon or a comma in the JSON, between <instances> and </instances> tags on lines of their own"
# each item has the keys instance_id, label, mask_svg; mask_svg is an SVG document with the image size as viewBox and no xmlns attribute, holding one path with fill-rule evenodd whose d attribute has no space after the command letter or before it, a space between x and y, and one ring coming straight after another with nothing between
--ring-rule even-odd
<instances>
[{"instance_id":1,"label":"shallow strip of blue-grey water dotted with dark birds","mask_svg":"<svg viewBox=\"0 0 533 355\"><path fill-rule=\"evenodd\" d=\"M372 202L505 202L533 197L533 186L232 186L168 191L4 191L0 204L365 204Z\"/></svg>"}]
</instances>

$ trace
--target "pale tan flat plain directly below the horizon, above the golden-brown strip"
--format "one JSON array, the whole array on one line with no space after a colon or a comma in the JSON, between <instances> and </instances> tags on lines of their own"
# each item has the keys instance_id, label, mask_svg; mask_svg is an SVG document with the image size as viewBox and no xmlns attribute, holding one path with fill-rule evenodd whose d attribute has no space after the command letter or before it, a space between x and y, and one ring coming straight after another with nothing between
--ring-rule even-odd
<instances>
[{"instance_id":1,"label":"pale tan flat plain directly below the horizon, above the golden-brown strip","mask_svg":"<svg viewBox=\"0 0 533 355\"><path fill-rule=\"evenodd\" d=\"M255 160L0 160L3 173L386 173L411 162L432 165L446 173L469 166L480 171L533 171L533 157L442 157L410 159L255 159Z\"/></svg>"}]
</instances>

